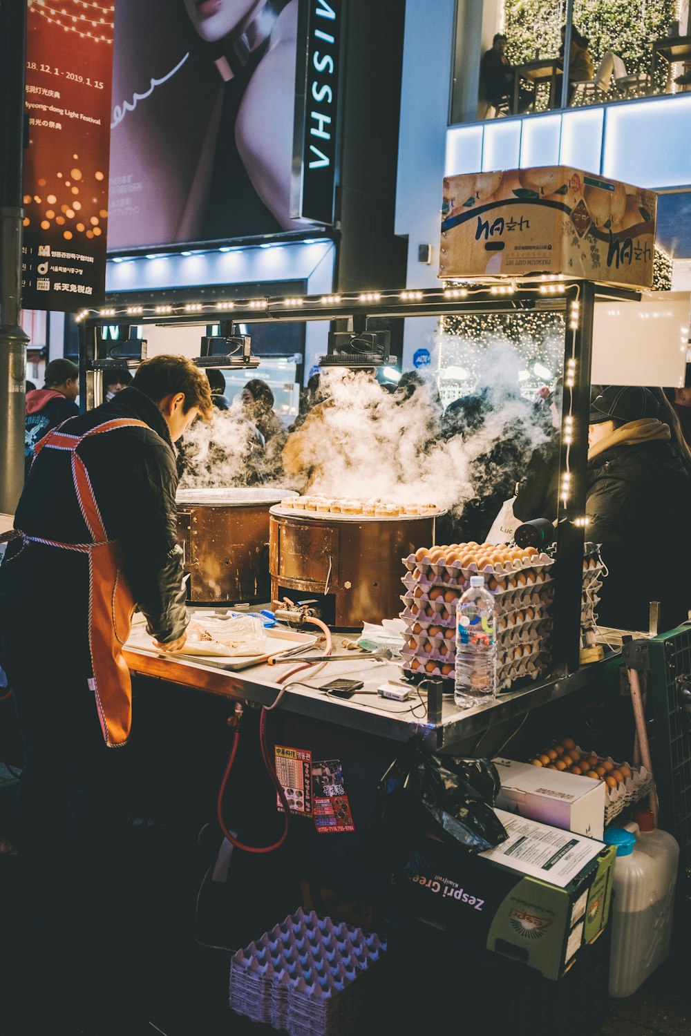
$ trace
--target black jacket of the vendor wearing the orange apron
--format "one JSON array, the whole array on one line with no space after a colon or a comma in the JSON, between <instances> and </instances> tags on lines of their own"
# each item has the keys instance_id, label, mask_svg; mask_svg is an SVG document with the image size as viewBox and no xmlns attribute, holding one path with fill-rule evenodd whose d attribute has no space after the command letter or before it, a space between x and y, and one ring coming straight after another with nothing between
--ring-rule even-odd
<instances>
[{"instance_id":1,"label":"black jacket of the vendor wearing the orange apron","mask_svg":"<svg viewBox=\"0 0 691 1036\"><path fill-rule=\"evenodd\" d=\"M143 421L148 428L123 428L87 439L79 448L109 539L123 549L124 574L149 632L165 643L186 626L182 555L176 545L175 452L157 407L128 387L95 410L66 422L62 431L80 435L116 418ZM63 543L88 543L73 489L68 454L44 450L27 478L15 527ZM81 674L89 668L86 555L12 541L0 567L0 623L34 626L69 650ZM0 633L2 630L0 630ZM38 641L40 642L40 641ZM77 651L71 651L76 648Z\"/></svg>"}]
</instances>

